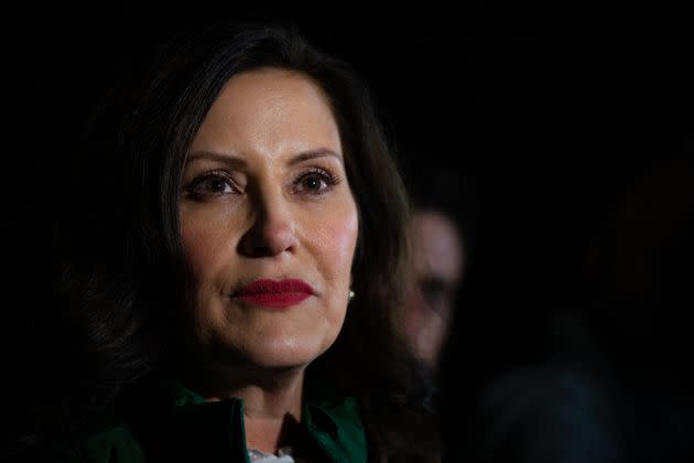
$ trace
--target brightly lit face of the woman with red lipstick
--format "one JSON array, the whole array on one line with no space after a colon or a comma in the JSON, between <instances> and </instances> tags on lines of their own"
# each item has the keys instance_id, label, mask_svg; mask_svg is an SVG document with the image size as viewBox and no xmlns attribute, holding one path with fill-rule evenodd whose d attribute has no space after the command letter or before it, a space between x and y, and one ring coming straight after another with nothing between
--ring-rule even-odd
<instances>
[{"instance_id":1,"label":"brightly lit face of the woman with red lipstick","mask_svg":"<svg viewBox=\"0 0 694 463\"><path fill-rule=\"evenodd\" d=\"M193 140L181 232L206 358L303 367L347 310L358 214L323 91L276 68L232 77Z\"/></svg>"}]
</instances>

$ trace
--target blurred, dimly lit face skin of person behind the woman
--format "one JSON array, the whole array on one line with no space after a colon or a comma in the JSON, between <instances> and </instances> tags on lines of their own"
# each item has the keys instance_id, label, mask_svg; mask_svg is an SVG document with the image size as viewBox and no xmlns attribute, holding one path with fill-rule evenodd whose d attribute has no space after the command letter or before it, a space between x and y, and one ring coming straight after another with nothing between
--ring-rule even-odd
<instances>
[{"instance_id":1,"label":"blurred, dimly lit face skin of person behind the woman","mask_svg":"<svg viewBox=\"0 0 694 463\"><path fill-rule=\"evenodd\" d=\"M463 278L463 243L455 224L432 209L413 214L410 233L413 282L405 299L405 330L415 355L436 368Z\"/></svg>"}]
</instances>

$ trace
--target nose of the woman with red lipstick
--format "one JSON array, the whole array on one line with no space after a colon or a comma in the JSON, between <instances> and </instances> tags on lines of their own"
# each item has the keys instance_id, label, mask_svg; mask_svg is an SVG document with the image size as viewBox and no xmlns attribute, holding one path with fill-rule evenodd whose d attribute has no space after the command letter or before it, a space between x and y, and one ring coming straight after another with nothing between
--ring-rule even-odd
<instances>
[{"instance_id":1,"label":"nose of the woman with red lipstick","mask_svg":"<svg viewBox=\"0 0 694 463\"><path fill-rule=\"evenodd\" d=\"M291 205L279 196L259 198L251 227L241 237L239 252L247 257L273 257L297 247Z\"/></svg>"}]
</instances>

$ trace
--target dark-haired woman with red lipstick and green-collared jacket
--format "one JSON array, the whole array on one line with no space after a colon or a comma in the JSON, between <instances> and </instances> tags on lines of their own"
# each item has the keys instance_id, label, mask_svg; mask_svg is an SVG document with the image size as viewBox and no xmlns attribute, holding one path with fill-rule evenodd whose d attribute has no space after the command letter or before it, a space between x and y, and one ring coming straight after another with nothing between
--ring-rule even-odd
<instances>
[{"instance_id":1,"label":"dark-haired woman with red lipstick and green-collared jacket","mask_svg":"<svg viewBox=\"0 0 694 463\"><path fill-rule=\"evenodd\" d=\"M368 91L292 30L188 36L111 95L72 166L58 288L89 375L44 454L437 461Z\"/></svg>"}]
</instances>

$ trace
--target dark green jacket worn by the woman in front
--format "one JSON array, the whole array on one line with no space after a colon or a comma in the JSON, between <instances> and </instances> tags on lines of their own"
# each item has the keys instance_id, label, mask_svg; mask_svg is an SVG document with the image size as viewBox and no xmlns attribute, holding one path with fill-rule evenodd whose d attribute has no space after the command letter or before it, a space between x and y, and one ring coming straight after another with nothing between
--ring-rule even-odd
<instances>
[{"instance_id":1,"label":"dark green jacket worn by the woman in front","mask_svg":"<svg viewBox=\"0 0 694 463\"><path fill-rule=\"evenodd\" d=\"M353 398L305 399L302 427L317 461L367 461L366 432ZM50 445L35 461L249 462L242 400L205 401L177 384L167 384L156 400L133 401L88 429Z\"/></svg>"}]
</instances>

